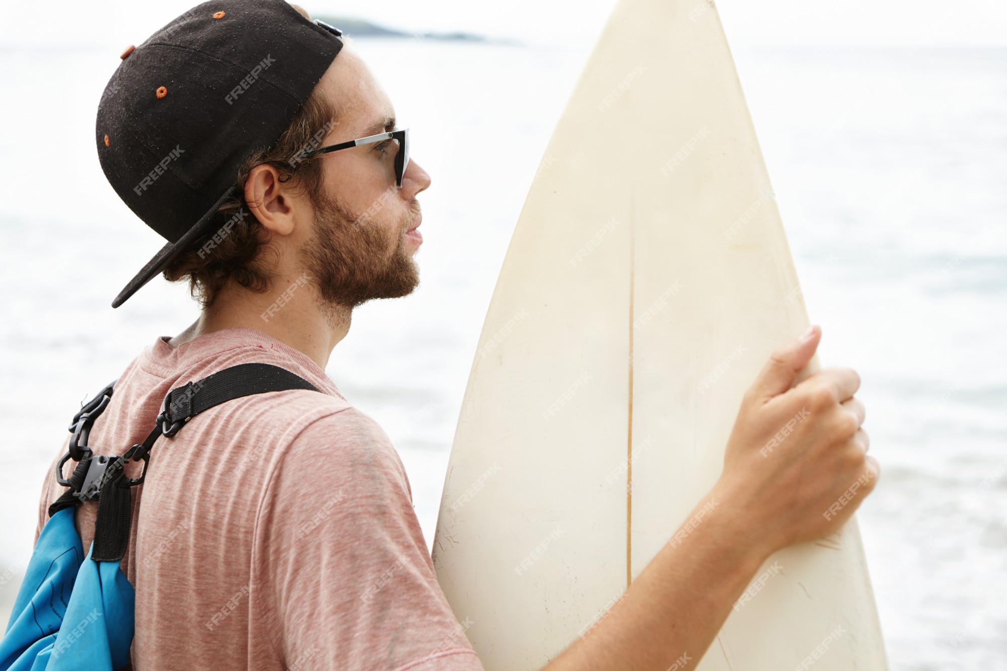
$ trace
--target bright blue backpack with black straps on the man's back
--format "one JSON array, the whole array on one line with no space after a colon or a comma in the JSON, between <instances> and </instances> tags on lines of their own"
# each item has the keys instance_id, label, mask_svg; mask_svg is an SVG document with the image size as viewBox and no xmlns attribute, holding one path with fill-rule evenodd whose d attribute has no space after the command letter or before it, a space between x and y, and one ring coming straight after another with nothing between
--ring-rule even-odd
<instances>
[{"instance_id":1,"label":"bright blue backpack with black straps on the man's back","mask_svg":"<svg viewBox=\"0 0 1007 671\"><path fill-rule=\"evenodd\" d=\"M251 394L288 389L318 391L306 380L268 364L242 364L172 389L150 435L122 456L99 456L88 448L95 419L102 414L115 383L103 389L74 416L73 437L56 466L56 479L69 488L49 506L49 520L35 543L10 622L0 641L0 671L113 671L130 662L133 643L133 585L119 568L129 548L132 497L143 483L150 450L160 436L174 436L195 415ZM68 480L63 464L78 462ZM123 468L143 461L130 479ZM77 506L98 501L95 540L84 554L74 523Z\"/></svg>"}]
</instances>

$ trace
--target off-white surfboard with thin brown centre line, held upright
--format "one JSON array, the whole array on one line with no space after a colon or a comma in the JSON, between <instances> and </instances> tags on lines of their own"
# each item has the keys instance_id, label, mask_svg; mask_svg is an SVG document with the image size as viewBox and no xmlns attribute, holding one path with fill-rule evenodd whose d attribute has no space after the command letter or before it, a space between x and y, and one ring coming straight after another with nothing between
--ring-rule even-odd
<instances>
[{"instance_id":1,"label":"off-white surfboard with thin brown centre line, held upright","mask_svg":"<svg viewBox=\"0 0 1007 671\"><path fill-rule=\"evenodd\" d=\"M515 230L444 486L434 564L488 671L541 668L604 616L807 325L713 2L621 0ZM854 522L747 594L700 669L886 668Z\"/></svg>"}]
</instances>

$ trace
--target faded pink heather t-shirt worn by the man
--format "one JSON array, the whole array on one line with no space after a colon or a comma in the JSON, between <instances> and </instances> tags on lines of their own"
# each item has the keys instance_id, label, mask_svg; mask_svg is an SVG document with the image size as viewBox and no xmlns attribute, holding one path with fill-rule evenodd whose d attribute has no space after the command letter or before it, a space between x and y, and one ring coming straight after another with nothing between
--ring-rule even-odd
<instances>
[{"instance_id":1,"label":"faded pink heather t-shirt worn by the man","mask_svg":"<svg viewBox=\"0 0 1007 671\"><path fill-rule=\"evenodd\" d=\"M134 669L481 669L381 427L314 362L257 330L167 340L119 378L91 433L96 453L122 454L171 389L238 364L279 366L322 393L229 401L158 438L121 564L136 588ZM64 491L50 475L39 530ZM78 509L85 548L96 511Z\"/></svg>"}]
</instances>

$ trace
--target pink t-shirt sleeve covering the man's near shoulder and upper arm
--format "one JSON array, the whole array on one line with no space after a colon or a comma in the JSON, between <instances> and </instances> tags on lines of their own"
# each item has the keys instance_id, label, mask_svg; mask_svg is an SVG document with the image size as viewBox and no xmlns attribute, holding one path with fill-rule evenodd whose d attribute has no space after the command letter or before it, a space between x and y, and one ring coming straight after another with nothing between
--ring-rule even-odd
<instances>
[{"instance_id":1,"label":"pink t-shirt sleeve covering the man's near shoulder and upper arm","mask_svg":"<svg viewBox=\"0 0 1007 671\"><path fill-rule=\"evenodd\" d=\"M275 467L253 561L289 669L482 669L434 575L405 469L353 408L312 422Z\"/></svg>"}]
</instances>

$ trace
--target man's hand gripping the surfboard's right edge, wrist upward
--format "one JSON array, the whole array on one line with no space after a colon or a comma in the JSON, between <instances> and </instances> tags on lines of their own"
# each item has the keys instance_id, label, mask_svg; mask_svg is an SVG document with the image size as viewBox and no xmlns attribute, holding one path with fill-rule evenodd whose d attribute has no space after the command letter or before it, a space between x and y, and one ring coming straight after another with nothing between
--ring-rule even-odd
<instances>
[{"instance_id":1,"label":"man's hand gripping the surfboard's right edge, wrist upward","mask_svg":"<svg viewBox=\"0 0 1007 671\"><path fill-rule=\"evenodd\" d=\"M798 374L818 349L812 326L776 350L744 396L714 496L746 511L767 554L837 531L877 483L861 428L860 377L848 368Z\"/></svg>"}]
</instances>

